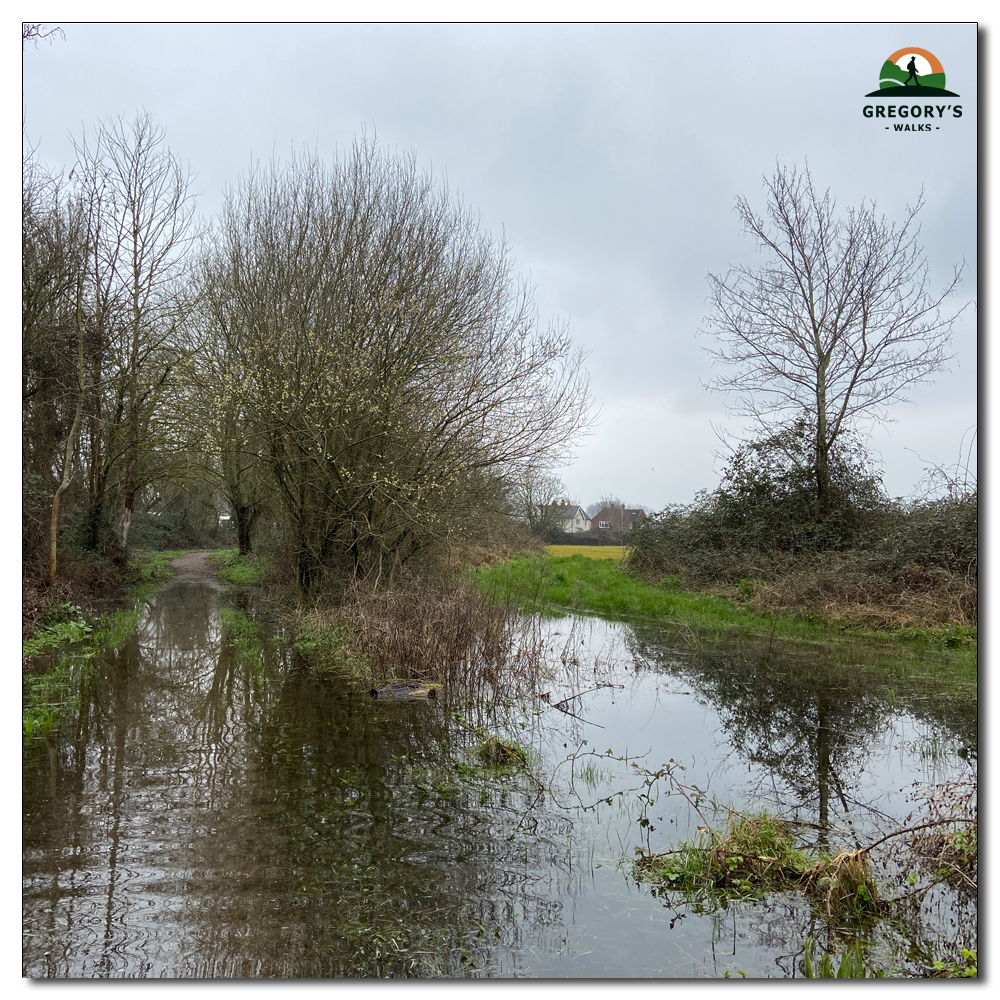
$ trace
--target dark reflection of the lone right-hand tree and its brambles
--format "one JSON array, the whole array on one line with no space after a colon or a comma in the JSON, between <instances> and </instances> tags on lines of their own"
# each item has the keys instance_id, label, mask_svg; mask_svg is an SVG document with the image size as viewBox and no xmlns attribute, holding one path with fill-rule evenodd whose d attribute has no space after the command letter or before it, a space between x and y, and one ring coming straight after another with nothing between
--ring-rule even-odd
<instances>
[{"instance_id":1,"label":"dark reflection of the lone right-hand tree and its brambles","mask_svg":"<svg viewBox=\"0 0 1000 1000\"><path fill-rule=\"evenodd\" d=\"M867 669L821 647L764 640L699 649L641 626L631 629L627 641L637 661L683 677L711 702L735 752L784 783L778 808L812 813L820 827L820 844L837 825L838 812L855 820L867 812L878 825L881 817L875 806L853 798L852 790L866 767L872 741L898 709L951 733L974 755L974 700L933 699L926 688L899 684L898 673ZM663 899L677 914L712 914L720 942L732 948L739 939L775 955L776 966L786 976L801 974L802 948L810 938L817 943L817 954L829 949L834 955L861 940L870 967L911 971L954 955L958 947L975 948L975 901L955 893L933 898L941 911L934 919L928 919L927 901L915 900L912 907L895 909L892 920L856 925L831 921L799 893L728 907L718 900L686 899L678 892L666 892Z\"/></svg>"}]
</instances>

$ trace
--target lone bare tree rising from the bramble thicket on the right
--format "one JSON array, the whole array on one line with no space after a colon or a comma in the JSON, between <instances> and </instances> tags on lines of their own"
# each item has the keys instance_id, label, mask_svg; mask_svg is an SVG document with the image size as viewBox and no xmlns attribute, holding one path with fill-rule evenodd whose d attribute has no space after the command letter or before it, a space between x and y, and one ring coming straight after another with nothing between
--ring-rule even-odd
<instances>
[{"instance_id":1,"label":"lone bare tree rising from the bramble thicket on the right","mask_svg":"<svg viewBox=\"0 0 1000 1000\"><path fill-rule=\"evenodd\" d=\"M840 434L861 417L885 420L887 404L950 360L961 309L943 315L941 306L962 268L943 290L931 290L916 221L923 196L890 223L874 202L838 215L808 168L779 168L765 190L766 218L745 198L736 211L768 262L709 275L707 332L719 343L711 353L736 369L710 387L739 393L738 412L764 423L804 415L822 512Z\"/></svg>"}]
</instances>

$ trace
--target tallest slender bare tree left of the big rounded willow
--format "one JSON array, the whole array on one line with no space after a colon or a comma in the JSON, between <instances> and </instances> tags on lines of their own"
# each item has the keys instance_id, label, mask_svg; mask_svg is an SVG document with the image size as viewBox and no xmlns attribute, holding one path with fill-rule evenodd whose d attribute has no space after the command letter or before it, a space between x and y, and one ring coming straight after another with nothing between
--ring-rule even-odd
<instances>
[{"instance_id":1,"label":"tallest slender bare tree left of the big rounded willow","mask_svg":"<svg viewBox=\"0 0 1000 1000\"><path fill-rule=\"evenodd\" d=\"M136 498L159 474L154 447L182 353L192 238L190 179L150 115L116 119L76 147L91 248L88 298L93 386L89 450L91 544L98 547L109 491L128 542ZM169 448L165 449L169 451Z\"/></svg>"}]
</instances>

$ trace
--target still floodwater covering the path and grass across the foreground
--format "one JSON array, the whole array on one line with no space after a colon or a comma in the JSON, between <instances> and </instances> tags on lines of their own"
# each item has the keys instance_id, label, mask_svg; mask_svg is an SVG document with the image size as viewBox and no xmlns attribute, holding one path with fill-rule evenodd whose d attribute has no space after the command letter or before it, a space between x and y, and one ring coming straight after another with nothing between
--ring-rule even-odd
<instances>
[{"instance_id":1,"label":"still floodwater covering the path and grass across the foreground","mask_svg":"<svg viewBox=\"0 0 1000 1000\"><path fill-rule=\"evenodd\" d=\"M661 896L636 848L727 806L863 846L975 775L940 654L935 681L871 650L535 620L537 697L490 715L317 678L234 600L155 594L78 714L26 742L26 976L797 976L807 938L836 951L804 897ZM484 766L476 726L529 767ZM935 889L864 931L866 961L914 971L974 948L975 920Z\"/></svg>"}]
</instances>

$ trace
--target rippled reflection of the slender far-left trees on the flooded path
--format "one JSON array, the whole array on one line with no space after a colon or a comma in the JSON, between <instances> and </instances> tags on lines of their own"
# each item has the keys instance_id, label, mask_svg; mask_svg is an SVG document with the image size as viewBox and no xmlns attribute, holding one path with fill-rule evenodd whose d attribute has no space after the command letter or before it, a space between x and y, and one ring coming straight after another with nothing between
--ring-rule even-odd
<instances>
[{"instance_id":1,"label":"rippled reflection of the slender far-left trees on the flooded path","mask_svg":"<svg viewBox=\"0 0 1000 1000\"><path fill-rule=\"evenodd\" d=\"M126 915L140 905L142 878L164 860L147 849L140 828L180 841L192 815L175 809L190 805L176 798L188 784L190 746L178 736L190 731L203 703L200 682L218 658L216 597L209 588L153 597L136 633L94 657L79 712L48 740L45 786L26 769L24 845L33 864L25 967L33 975L103 977L148 967L123 950L135 934ZM162 854L165 845L156 846Z\"/></svg>"}]
</instances>

